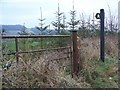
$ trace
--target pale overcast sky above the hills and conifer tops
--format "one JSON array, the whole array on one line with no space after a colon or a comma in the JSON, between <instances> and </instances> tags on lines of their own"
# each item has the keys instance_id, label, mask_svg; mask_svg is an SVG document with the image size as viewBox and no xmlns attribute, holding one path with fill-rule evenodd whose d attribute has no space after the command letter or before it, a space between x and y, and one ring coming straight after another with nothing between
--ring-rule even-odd
<instances>
[{"instance_id":1,"label":"pale overcast sky above the hills and conifer tops","mask_svg":"<svg viewBox=\"0 0 120 90\"><path fill-rule=\"evenodd\" d=\"M64 12L67 21L70 20L69 12L72 10L73 0L0 0L0 24L24 24L26 27L38 26L40 18L40 7L42 7L43 18L45 24L48 25L55 20L55 12L57 11L57 3L60 3L60 11ZM74 0L77 18L79 15L89 16L105 9L108 15L110 6L112 15L117 16L118 1L120 0Z\"/></svg>"}]
</instances>

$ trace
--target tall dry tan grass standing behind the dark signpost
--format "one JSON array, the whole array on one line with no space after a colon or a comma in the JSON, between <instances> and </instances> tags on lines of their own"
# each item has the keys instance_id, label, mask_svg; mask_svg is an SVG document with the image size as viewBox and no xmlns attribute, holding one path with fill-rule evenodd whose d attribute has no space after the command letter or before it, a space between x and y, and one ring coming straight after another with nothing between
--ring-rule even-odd
<instances>
[{"instance_id":1,"label":"tall dry tan grass standing behind the dark signpost","mask_svg":"<svg viewBox=\"0 0 120 90\"><path fill-rule=\"evenodd\" d=\"M100 38L85 38L81 40L80 49L83 60L94 60L100 58ZM118 38L117 36L105 37L105 56L118 57Z\"/></svg>"}]
</instances>

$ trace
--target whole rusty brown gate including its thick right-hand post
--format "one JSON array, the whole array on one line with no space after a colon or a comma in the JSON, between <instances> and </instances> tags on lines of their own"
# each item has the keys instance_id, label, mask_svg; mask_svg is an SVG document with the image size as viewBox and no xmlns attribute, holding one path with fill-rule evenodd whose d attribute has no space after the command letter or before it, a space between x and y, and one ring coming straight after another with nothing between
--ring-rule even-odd
<instances>
[{"instance_id":1,"label":"whole rusty brown gate including its thick right-hand post","mask_svg":"<svg viewBox=\"0 0 120 90\"><path fill-rule=\"evenodd\" d=\"M72 40L71 40L71 43L73 43L73 51L71 50L71 46L68 46L68 47L59 47L59 48L49 48L49 49L40 49L40 50L31 50L31 51L22 51L22 52L19 52L18 50L18 38L70 38L71 35L21 35L21 36L1 36L3 39L4 38L15 38L15 45L16 45L16 52L15 52L15 55L16 55L16 61L17 63L19 62L19 57L18 57L18 54L21 54L21 53L32 53L32 52L41 52L41 51L49 51L49 50L59 50L59 49L66 49L66 48L70 48L70 57L61 57L60 59L62 58L71 58L73 55L73 61L72 61L72 69L73 69L73 72L72 74L77 74L78 71L79 71L79 63L78 63L78 49L77 49L77 32L76 31L72 31ZM71 44L70 44L71 45ZM68 53L69 53L68 52ZM73 53L71 53L73 52ZM14 53L12 53L14 54Z\"/></svg>"}]
</instances>

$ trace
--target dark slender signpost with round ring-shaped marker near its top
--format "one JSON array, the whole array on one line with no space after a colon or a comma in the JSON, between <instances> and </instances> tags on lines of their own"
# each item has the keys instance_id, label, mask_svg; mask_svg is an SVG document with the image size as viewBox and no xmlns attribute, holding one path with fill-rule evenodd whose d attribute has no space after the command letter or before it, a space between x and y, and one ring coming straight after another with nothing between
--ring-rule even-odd
<instances>
[{"instance_id":1,"label":"dark slender signpost with round ring-shaped marker near its top","mask_svg":"<svg viewBox=\"0 0 120 90\"><path fill-rule=\"evenodd\" d=\"M97 19L100 19L100 60L104 62L105 53L104 53L104 18L105 13L104 9L100 9L100 13L97 13L95 16Z\"/></svg>"}]
</instances>

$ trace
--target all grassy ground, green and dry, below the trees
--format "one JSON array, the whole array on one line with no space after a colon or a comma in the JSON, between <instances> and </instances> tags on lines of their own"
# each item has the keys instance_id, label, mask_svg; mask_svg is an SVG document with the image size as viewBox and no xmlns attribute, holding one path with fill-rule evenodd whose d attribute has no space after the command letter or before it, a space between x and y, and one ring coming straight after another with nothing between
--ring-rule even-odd
<instances>
[{"instance_id":1,"label":"all grassy ground, green and dry, below the trees","mask_svg":"<svg viewBox=\"0 0 120 90\"><path fill-rule=\"evenodd\" d=\"M30 43L19 44L20 50L34 50L41 48L37 40L29 39ZM46 41L46 40L45 40ZM58 40L52 41L53 45L47 45L43 40L42 48L58 47L63 43ZM48 42L47 41L47 42ZM68 40L66 40L68 41ZM60 58L66 50L45 51L31 54L21 54L17 64L14 56L5 56L3 64L12 62L9 69L3 68L4 88L35 88L35 87L78 87L78 88L118 88L118 38L116 35L105 37L105 62L99 60L99 37L80 37L80 59L83 61L83 70L79 76L71 77L70 58L53 60L53 57ZM24 43L21 40L19 43ZM4 53L15 51L15 42L3 42ZM63 45L63 44L62 44ZM60 45L62 47L62 45ZM63 46L66 46L64 43Z\"/></svg>"}]
</instances>

